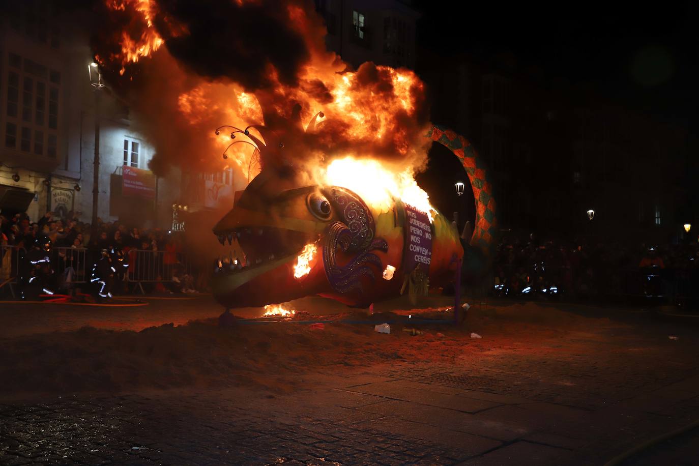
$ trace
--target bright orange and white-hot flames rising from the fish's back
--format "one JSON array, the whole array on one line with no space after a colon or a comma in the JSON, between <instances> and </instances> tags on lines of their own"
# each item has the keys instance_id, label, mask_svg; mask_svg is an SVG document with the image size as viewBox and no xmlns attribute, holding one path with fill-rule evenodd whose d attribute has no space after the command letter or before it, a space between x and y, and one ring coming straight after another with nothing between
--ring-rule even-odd
<instances>
[{"instance_id":1,"label":"bright orange and white-hot flames rising from the fish's back","mask_svg":"<svg viewBox=\"0 0 699 466\"><path fill-rule=\"evenodd\" d=\"M165 88L168 97L175 95L175 102L167 104L167 108L177 115L168 115L168 119L171 124L179 125L179 133L187 132L183 127L188 126L192 137L187 140L196 139L196 144L201 146L197 154L192 154L192 147L188 147L190 152L181 157L182 163L199 163L205 165L202 168L206 170L231 166L242 174L243 180L252 180L260 170L259 152L249 144L231 145L243 138L233 140L231 131L215 134L213 129L222 124L240 128L264 124L259 94L224 78L211 80L194 75L185 66L176 64L154 22L157 18L157 24L167 25L168 31L161 30L168 41L173 36L186 37L187 31L184 26L170 24L159 0L104 1L109 10L133 16L129 30L124 29L117 34L118 38L111 39L119 41L121 53L109 57L108 61L120 66L121 73L129 65L148 66L154 60L145 58L150 59L155 54L164 54L167 58L153 65L161 68L149 69L148 73L140 75L159 80L157 85L149 88L150 92ZM315 129L309 131L316 131L322 137L324 149L301 154L311 161L303 168L309 170L310 177L319 184L352 189L375 210L387 210L393 199L400 199L431 216L433 207L414 177L425 161L424 149L419 144L424 133L421 125L426 124L421 80L410 70L389 66L363 64L352 71L335 54L324 50L322 35L325 31L319 27L315 12L306 11L294 2L280 3L280 9L276 11L286 14L289 26L304 36L310 58L298 69L298 85L284 85L278 70L269 67L271 85L265 92L272 96L273 110L282 117L289 117L286 104L300 103L300 116L305 125L319 112L323 115L317 117ZM163 63L174 65L164 68ZM143 110L152 112L150 117L155 120L161 115L154 109L164 106L150 105ZM168 132L168 136L171 133ZM254 134L264 141L259 133ZM175 152L182 150L172 146L169 140L172 138L163 139L163 143L155 143L160 146L157 154L174 157Z\"/></svg>"}]
</instances>

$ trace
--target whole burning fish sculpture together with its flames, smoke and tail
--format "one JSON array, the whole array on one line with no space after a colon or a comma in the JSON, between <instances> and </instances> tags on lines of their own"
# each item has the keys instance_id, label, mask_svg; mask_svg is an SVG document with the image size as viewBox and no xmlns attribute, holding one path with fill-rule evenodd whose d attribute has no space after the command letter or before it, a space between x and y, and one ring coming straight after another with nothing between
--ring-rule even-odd
<instances>
[{"instance_id":1,"label":"whole burning fish sculpture together with its flames, smoke and tail","mask_svg":"<svg viewBox=\"0 0 699 466\"><path fill-rule=\"evenodd\" d=\"M94 43L96 61L131 96L154 143L153 170L247 171L247 188L213 228L231 246L212 279L219 303L262 306L319 294L366 306L407 283L424 289L427 277L433 286L454 279L462 256L473 276L487 268L492 185L468 141L428 123L415 73L345 64L326 49L326 26L311 2L213 3L105 0ZM305 129L301 115L310 119ZM222 121L257 124L201 137ZM466 248L413 178L424 163L417 149L424 132L425 143L447 146L468 173L477 213ZM229 136L236 147L225 162L213 161ZM256 156L247 156L245 143Z\"/></svg>"}]
</instances>

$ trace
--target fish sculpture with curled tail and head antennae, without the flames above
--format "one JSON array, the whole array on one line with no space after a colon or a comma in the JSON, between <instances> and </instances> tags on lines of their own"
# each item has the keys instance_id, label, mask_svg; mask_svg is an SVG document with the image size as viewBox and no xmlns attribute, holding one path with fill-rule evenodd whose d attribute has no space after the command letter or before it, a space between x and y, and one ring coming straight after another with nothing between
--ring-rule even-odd
<instances>
[{"instance_id":1,"label":"fish sculpture with curled tail and head antennae, without the flames above","mask_svg":"<svg viewBox=\"0 0 699 466\"><path fill-rule=\"evenodd\" d=\"M319 295L368 307L382 298L398 296L411 279L428 277L431 285L454 279L456 264L464 254L459 233L449 219L426 203L424 191L417 206L396 196L372 203L350 189L352 180L347 181L346 175L345 186L332 184L332 176L319 184L304 182L308 176L303 168L296 166L293 154L285 155L305 149L305 136L313 131L315 118L306 133L299 133L300 126L297 121L292 126L296 131L229 127L231 138L242 133L252 140L262 170L236 195L233 209L213 228L222 245L227 241L236 250L215 265L212 289L219 303L263 306ZM253 136L251 128L264 140ZM461 159L477 207L472 254L490 256L495 203L482 161L468 141L452 131L433 126L427 136ZM296 144L285 143L287 139ZM343 160L338 162L341 171ZM361 185L370 183L368 175L349 177ZM482 271L469 272L477 275Z\"/></svg>"}]
</instances>

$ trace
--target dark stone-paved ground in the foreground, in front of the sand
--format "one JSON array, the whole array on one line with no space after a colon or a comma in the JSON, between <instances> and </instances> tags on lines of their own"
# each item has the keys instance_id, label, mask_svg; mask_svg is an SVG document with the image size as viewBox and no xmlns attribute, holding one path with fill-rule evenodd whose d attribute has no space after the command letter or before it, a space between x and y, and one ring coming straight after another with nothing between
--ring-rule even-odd
<instances>
[{"instance_id":1,"label":"dark stone-paved ground in the foreground, in front of the sand","mask_svg":"<svg viewBox=\"0 0 699 466\"><path fill-rule=\"evenodd\" d=\"M0 464L600 465L699 418L694 333L639 319L453 364L330 366L290 393L4 400ZM677 442L653 464L699 464Z\"/></svg>"}]
</instances>

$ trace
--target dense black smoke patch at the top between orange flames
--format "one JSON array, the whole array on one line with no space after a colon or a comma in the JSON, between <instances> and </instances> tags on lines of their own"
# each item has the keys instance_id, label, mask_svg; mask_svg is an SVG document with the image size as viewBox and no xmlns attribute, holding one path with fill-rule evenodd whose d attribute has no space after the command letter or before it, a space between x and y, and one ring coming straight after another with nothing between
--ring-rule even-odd
<instances>
[{"instance_id":1,"label":"dense black smoke patch at the top between orange flames","mask_svg":"<svg viewBox=\"0 0 699 466\"><path fill-rule=\"evenodd\" d=\"M158 0L155 27L173 57L205 78L231 80L246 91L298 87L310 41L318 39L305 38L291 22L291 8L312 11L303 3Z\"/></svg>"}]
</instances>

